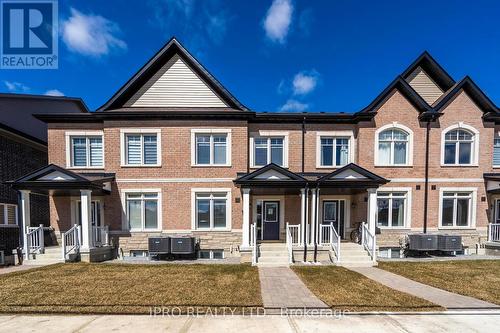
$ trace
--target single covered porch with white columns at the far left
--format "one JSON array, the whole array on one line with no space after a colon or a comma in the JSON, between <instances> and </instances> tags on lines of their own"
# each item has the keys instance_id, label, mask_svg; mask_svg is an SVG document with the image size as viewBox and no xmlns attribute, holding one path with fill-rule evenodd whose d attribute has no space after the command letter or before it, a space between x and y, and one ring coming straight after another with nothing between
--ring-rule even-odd
<instances>
[{"instance_id":1,"label":"single covered porch with white columns at the far left","mask_svg":"<svg viewBox=\"0 0 500 333\"><path fill-rule=\"evenodd\" d=\"M12 187L20 192L24 259L38 259L46 252L44 226L31 221L32 195L50 196L53 202L64 201L61 209L71 212L55 225L51 221L50 229L57 234L60 247L60 261L111 259L109 227L103 217L104 197L111 193L113 180L114 174L75 173L51 164L12 181Z\"/></svg>"}]
</instances>

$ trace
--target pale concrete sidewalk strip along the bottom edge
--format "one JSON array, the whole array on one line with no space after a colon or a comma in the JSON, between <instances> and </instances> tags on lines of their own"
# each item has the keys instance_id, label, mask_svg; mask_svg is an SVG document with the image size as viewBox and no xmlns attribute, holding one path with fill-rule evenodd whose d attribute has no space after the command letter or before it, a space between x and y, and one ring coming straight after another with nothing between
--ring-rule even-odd
<instances>
[{"instance_id":1,"label":"pale concrete sidewalk strip along the bottom edge","mask_svg":"<svg viewBox=\"0 0 500 333\"><path fill-rule=\"evenodd\" d=\"M496 332L500 315L0 316L0 332Z\"/></svg>"}]
</instances>

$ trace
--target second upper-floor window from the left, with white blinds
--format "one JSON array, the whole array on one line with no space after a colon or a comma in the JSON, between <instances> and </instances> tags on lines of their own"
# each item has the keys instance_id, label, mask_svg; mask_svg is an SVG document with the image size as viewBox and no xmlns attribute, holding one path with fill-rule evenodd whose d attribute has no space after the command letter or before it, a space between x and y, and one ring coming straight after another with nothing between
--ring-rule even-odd
<instances>
[{"instance_id":1,"label":"second upper-floor window from the left, with white blinds","mask_svg":"<svg viewBox=\"0 0 500 333\"><path fill-rule=\"evenodd\" d=\"M154 134L125 135L126 165L158 165L158 136Z\"/></svg>"}]
</instances>

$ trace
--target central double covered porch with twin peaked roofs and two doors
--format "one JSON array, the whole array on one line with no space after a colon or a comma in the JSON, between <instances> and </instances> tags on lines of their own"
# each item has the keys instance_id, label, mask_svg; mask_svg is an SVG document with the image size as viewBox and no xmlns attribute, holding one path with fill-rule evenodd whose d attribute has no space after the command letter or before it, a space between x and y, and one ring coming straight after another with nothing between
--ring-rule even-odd
<instances>
[{"instance_id":1,"label":"central double covered porch with twin peaked roofs and two doors","mask_svg":"<svg viewBox=\"0 0 500 333\"><path fill-rule=\"evenodd\" d=\"M242 252L259 259L259 244L285 243L289 263L341 262L342 243L361 224L362 246L375 261L376 189L388 181L355 164L331 173L293 173L270 164L240 175Z\"/></svg>"}]
</instances>

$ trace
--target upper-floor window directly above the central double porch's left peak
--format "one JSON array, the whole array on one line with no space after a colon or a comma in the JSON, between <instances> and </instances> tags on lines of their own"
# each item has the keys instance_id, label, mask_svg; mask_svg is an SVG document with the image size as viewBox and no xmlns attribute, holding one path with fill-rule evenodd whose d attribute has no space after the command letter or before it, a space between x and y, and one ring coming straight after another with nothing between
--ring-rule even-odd
<instances>
[{"instance_id":1,"label":"upper-floor window directly above the central double porch's left peak","mask_svg":"<svg viewBox=\"0 0 500 333\"><path fill-rule=\"evenodd\" d=\"M254 166L264 166L270 163L284 166L283 137L257 137L253 142Z\"/></svg>"}]
</instances>

